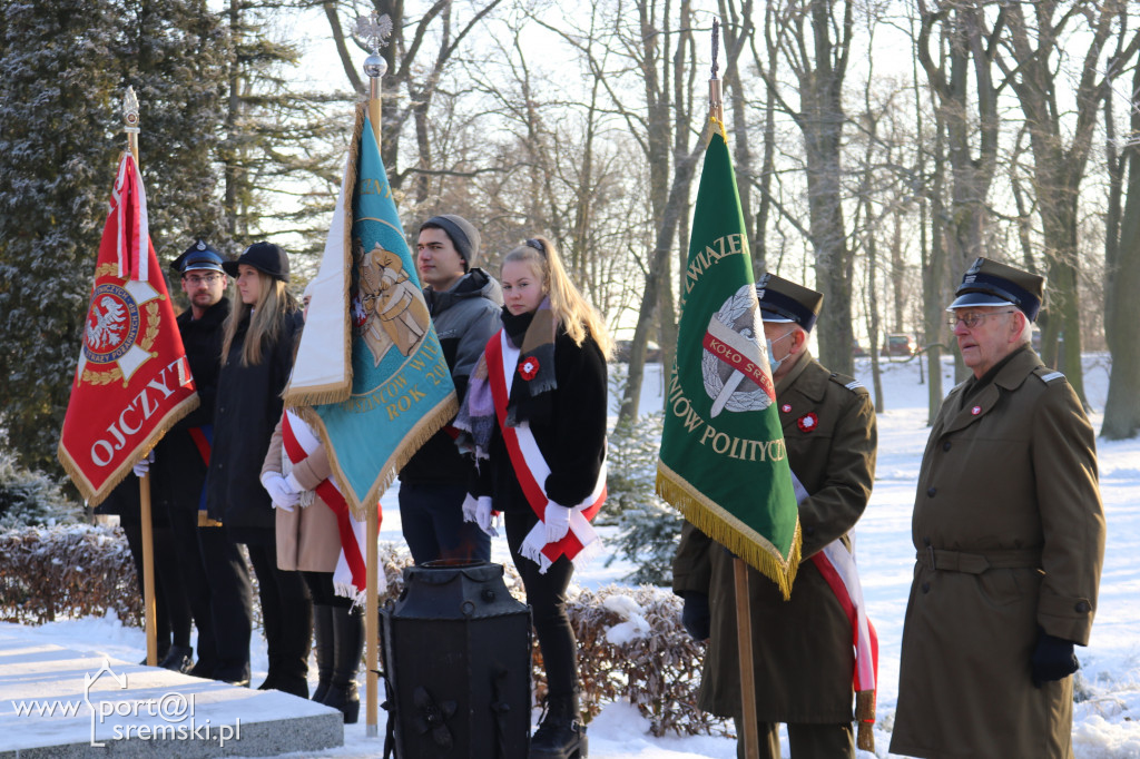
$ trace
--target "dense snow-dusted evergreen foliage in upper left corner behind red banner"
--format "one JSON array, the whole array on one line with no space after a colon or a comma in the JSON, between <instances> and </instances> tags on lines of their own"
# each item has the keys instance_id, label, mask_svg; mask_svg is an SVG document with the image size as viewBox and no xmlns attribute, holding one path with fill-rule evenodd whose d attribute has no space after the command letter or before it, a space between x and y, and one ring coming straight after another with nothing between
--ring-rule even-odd
<instances>
[{"instance_id":1,"label":"dense snow-dusted evergreen foliage in upper left corner behind red banner","mask_svg":"<svg viewBox=\"0 0 1140 759\"><path fill-rule=\"evenodd\" d=\"M0 430L27 467L58 472L91 275L127 146L128 84L140 100L160 258L218 228L211 150L223 42L204 0L0 9Z\"/></svg>"}]
</instances>

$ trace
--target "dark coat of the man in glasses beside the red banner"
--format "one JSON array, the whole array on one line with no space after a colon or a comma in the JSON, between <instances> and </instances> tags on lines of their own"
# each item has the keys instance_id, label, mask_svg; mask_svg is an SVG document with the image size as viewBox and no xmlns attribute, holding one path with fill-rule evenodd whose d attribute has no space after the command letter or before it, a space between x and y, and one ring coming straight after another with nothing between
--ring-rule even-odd
<instances>
[{"instance_id":1,"label":"dark coat of the man in glasses beside the red banner","mask_svg":"<svg viewBox=\"0 0 1140 759\"><path fill-rule=\"evenodd\" d=\"M221 370L222 324L227 316L227 297L206 309L201 319L193 318L190 309L178 316L178 332L182 336L199 403L155 446L150 495L160 508L196 512L202 501L206 462L190 435L190 429L213 424L218 373Z\"/></svg>"}]
</instances>

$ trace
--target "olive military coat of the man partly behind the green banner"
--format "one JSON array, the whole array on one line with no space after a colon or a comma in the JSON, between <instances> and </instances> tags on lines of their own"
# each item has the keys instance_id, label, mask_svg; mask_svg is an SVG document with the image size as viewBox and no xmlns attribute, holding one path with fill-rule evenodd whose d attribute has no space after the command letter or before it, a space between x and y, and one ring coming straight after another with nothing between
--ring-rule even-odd
<instances>
[{"instance_id":1,"label":"olive military coat of the man partly behind the green banner","mask_svg":"<svg viewBox=\"0 0 1140 759\"><path fill-rule=\"evenodd\" d=\"M788 462L811 497L799 505L803 557L791 599L748 571L757 716L767 723L849 723L852 628L808 558L855 525L871 496L878 433L865 387L828 372L806 352L776 385ZM707 593L711 634L699 705L741 712L732 556L685 524L674 561L674 590Z\"/></svg>"}]
</instances>

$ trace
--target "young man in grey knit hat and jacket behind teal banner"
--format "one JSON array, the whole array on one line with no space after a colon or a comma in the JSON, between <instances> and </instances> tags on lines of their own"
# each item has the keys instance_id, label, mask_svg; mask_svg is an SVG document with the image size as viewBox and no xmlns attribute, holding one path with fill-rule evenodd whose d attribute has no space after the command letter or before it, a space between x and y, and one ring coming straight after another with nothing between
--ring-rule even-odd
<instances>
[{"instance_id":1,"label":"young man in grey knit hat and jacket behind teal banner","mask_svg":"<svg viewBox=\"0 0 1140 759\"><path fill-rule=\"evenodd\" d=\"M432 217L420 227L416 269L424 301L459 402L487 341L502 326L503 291L477 268L479 231L463 217ZM437 432L400 471L400 521L416 564L439 558L489 561L490 537L463 521L474 460L459 454L450 426Z\"/></svg>"}]
</instances>

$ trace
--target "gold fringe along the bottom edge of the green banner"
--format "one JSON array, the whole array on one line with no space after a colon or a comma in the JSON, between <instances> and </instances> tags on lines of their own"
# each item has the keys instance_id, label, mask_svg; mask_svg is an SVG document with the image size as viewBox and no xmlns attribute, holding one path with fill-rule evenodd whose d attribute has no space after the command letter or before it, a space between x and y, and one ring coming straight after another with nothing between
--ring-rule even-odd
<instances>
[{"instance_id":1,"label":"gold fringe along the bottom edge of the green banner","mask_svg":"<svg viewBox=\"0 0 1140 759\"><path fill-rule=\"evenodd\" d=\"M684 478L658 460L657 495L671 504L693 527L726 547L780 588L784 601L791 598L800 561L799 520L788 558L763 534L741 522L731 512L695 492Z\"/></svg>"}]
</instances>

